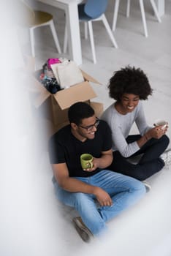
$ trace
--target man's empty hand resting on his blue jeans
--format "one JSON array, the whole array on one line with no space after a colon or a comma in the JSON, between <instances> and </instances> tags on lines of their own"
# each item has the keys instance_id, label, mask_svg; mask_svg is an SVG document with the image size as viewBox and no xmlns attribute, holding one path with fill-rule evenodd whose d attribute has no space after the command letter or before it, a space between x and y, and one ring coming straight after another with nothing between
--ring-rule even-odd
<instances>
[{"instance_id":1,"label":"man's empty hand resting on his blue jeans","mask_svg":"<svg viewBox=\"0 0 171 256\"><path fill-rule=\"evenodd\" d=\"M101 206L113 205L113 200L111 199L110 195L100 187L94 188L94 195L96 196L96 200L98 200Z\"/></svg>"}]
</instances>

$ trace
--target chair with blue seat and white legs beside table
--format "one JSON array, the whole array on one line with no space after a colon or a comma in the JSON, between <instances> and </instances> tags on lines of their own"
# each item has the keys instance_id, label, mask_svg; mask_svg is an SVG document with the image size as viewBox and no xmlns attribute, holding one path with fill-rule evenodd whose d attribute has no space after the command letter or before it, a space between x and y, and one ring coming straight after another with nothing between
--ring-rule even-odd
<instances>
[{"instance_id":1,"label":"chair with blue seat and white legs beside table","mask_svg":"<svg viewBox=\"0 0 171 256\"><path fill-rule=\"evenodd\" d=\"M96 64L96 53L94 47L94 34L92 28L92 21L102 20L107 33L109 34L110 40L113 42L115 48L118 48L117 43L115 42L115 38L113 37L113 32L110 29L109 23L107 22L107 18L104 15L105 10L107 9L107 0L88 0L85 4L78 5L78 15L79 20L85 23L85 37L87 38L87 26L90 35L91 41L91 51L93 55L94 64ZM67 48L67 27L65 26L65 36L64 36L64 53L66 53Z\"/></svg>"}]
</instances>

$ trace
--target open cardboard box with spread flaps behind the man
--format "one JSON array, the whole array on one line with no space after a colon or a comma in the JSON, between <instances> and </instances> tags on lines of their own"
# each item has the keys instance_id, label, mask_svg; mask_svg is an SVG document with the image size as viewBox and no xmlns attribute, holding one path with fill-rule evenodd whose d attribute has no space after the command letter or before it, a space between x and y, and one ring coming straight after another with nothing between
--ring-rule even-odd
<instances>
[{"instance_id":1,"label":"open cardboard box with spread flaps behind the man","mask_svg":"<svg viewBox=\"0 0 171 256\"><path fill-rule=\"evenodd\" d=\"M88 102L94 108L96 116L99 117L102 114L103 104L91 102L91 99L96 97L96 93L89 82L100 83L86 72L81 70L85 80L83 83L77 83L68 89L58 91L56 94L50 94L42 83L39 83L37 77L40 72L41 70L37 71L35 77L31 78L29 91L34 93L32 100L35 110L39 110L44 118L49 119L56 131L68 124L68 108L75 102Z\"/></svg>"}]
</instances>

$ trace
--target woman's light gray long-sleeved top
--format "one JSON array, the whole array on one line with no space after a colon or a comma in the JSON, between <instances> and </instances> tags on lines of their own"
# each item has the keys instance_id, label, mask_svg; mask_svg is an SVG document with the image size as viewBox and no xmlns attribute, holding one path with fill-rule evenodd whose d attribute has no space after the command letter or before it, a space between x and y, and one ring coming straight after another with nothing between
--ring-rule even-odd
<instances>
[{"instance_id":1,"label":"woman's light gray long-sleeved top","mask_svg":"<svg viewBox=\"0 0 171 256\"><path fill-rule=\"evenodd\" d=\"M110 105L110 107L104 111L101 118L107 121L112 130L113 151L118 150L123 157L130 157L140 149L136 141L129 144L126 142L126 138L129 136L134 122L137 125L140 135L144 135L148 129L151 129L151 127L148 127L145 120L141 101L138 102L134 111L126 115L118 113L115 109L115 103L113 103L113 105Z\"/></svg>"}]
</instances>

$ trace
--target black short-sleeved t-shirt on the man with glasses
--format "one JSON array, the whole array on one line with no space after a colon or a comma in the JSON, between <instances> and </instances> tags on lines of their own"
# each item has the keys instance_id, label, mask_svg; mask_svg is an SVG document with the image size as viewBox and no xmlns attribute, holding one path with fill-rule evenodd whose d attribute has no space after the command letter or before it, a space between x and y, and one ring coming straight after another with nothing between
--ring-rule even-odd
<instances>
[{"instance_id":1,"label":"black short-sleeved t-shirt on the man with glasses","mask_svg":"<svg viewBox=\"0 0 171 256\"><path fill-rule=\"evenodd\" d=\"M49 157L51 164L66 163L70 177L93 176L100 171L99 168L93 172L86 172L80 165L80 155L92 154L93 157L101 157L102 151L112 148L110 127L105 121L100 120L99 126L92 140L84 142L77 140L72 135L70 125L60 129L50 138Z\"/></svg>"}]
</instances>

